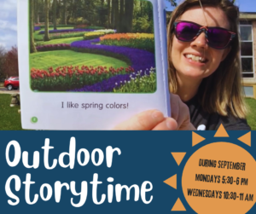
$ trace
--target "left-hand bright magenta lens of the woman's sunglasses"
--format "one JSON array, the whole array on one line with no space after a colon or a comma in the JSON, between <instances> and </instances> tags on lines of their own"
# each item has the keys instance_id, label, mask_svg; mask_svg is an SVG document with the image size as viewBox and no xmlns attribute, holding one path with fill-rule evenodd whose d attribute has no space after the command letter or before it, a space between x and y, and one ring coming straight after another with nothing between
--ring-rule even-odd
<instances>
[{"instance_id":1,"label":"left-hand bright magenta lens of the woman's sunglasses","mask_svg":"<svg viewBox=\"0 0 256 214\"><path fill-rule=\"evenodd\" d=\"M200 26L193 23L179 22L176 27L177 39L182 41L191 41L199 32Z\"/></svg>"}]
</instances>

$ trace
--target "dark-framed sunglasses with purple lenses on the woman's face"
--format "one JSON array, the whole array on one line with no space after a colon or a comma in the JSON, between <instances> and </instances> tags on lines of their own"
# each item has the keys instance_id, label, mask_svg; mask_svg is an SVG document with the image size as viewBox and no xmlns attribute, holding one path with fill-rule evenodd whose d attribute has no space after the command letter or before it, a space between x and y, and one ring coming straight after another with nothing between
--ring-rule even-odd
<instances>
[{"instance_id":1,"label":"dark-framed sunglasses with purple lenses on the woman's face","mask_svg":"<svg viewBox=\"0 0 256 214\"><path fill-rule=\"evenodd\" d=\"M201 26L192 21L179 20L174 23L175 36L183 42L191 42L197 38L201 32L206 34L207 43L213 49L225 49L229 46L233 38L236 38L235 32L218 26Z\"/></svg>"}]
</instances>

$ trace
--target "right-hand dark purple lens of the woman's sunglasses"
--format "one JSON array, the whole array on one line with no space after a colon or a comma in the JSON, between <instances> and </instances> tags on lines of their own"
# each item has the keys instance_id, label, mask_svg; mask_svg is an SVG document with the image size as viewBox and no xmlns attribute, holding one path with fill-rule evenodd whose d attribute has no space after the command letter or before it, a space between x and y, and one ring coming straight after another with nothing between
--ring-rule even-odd
<instances>
[{"instance_id":1,"label":"right-hand dark purple lens of the woman's sunglasses","mask_svg":"<svg viewBox=\"0 0 256 214\"><path fill-rule=\"evenodd\" d=\"M207 36L209 45L216 49L224 49L231 38L230 32L220 28L210 28Z\"/></svg>"}]
</instances>

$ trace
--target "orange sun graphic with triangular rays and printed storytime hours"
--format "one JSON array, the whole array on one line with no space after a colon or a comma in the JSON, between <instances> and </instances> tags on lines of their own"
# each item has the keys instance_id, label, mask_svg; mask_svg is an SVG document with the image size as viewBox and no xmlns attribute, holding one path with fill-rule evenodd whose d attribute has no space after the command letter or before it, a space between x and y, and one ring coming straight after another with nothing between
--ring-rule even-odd
<instances>
[{"instance_id":1,"label":"orange sun graphic with triangular rays and printed storytime hours","mask_svg":"<svg viewBox=\"0 0 256 214\"><path fill-rule=\"evenodd\" d=\"M214 137L229 139L221 124ZM221 138L221 139L222 139ZM192 147L206 139L192 132ZM251 147L251 131L238 138ZM180 165L186 153L172 153ZM231 142L212 142L200 147L185 163L182 188L190 207L199 214L237 213L249 211L256 194L256 161L244 148ZM254 175L255 174L255 175ZM177 189L177 174L164 181ZM171 211L186 211L177 198Z\"/></svg>"}]
</instances>

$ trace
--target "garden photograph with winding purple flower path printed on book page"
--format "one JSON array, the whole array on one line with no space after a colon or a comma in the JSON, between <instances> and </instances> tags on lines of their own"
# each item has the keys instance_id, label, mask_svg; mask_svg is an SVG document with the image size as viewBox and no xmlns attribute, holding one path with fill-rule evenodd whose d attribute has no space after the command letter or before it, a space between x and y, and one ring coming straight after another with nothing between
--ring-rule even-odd
<instances>
[{"instance_id":1,"label":"garden photograph with winding purple flower path printed on book page","mask_svg":"<svg viewBox=\"0 0 256 214\"><path fill-rule=\"evenodd\" d=\"M153 5L146 0L29 1L34 92L154 93Z\"/></svg>"}]
</instances>

